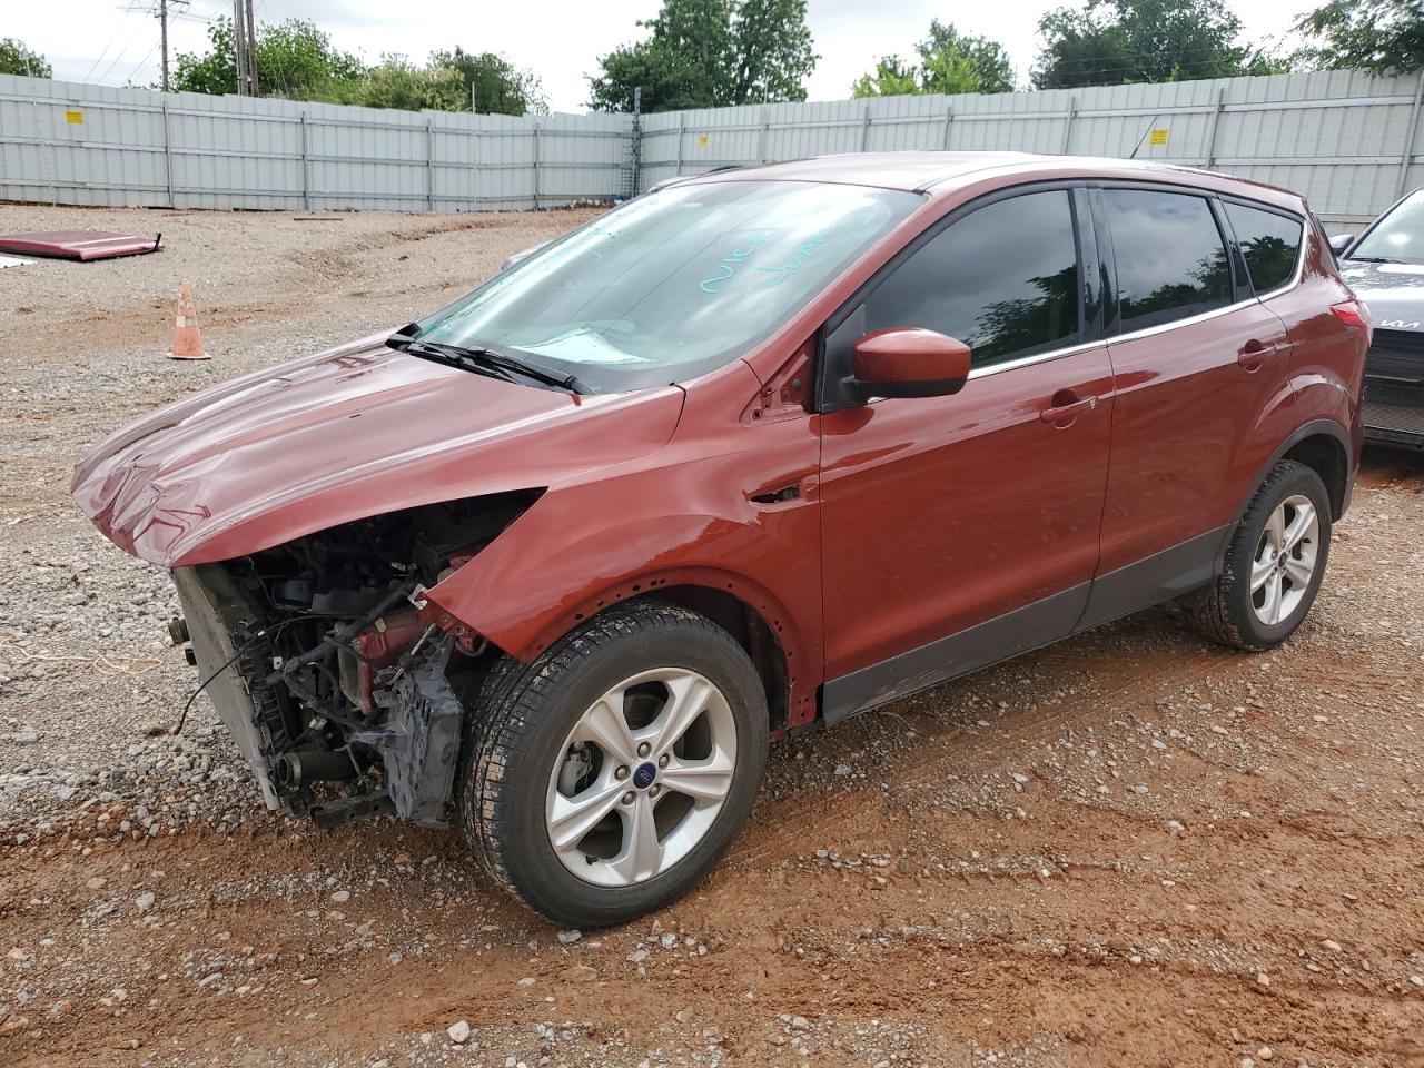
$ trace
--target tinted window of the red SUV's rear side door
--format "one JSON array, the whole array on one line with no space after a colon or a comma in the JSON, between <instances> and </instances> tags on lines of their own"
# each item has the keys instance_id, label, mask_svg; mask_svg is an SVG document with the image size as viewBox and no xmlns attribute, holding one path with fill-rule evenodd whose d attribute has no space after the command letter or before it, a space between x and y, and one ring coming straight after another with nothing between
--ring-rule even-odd
<instances>
[{"instance_id":1,"label":"tinted window of the red SUV's rear side door","mask_svg":"<svg viewBox=\"0 0 1424 1068\"><path fill-rule=\"evenodd\" d=\"M1124 332L1232 302L1226 245L1206 199L1146 189L1104 189L1102 197Z\"/></svg>"}]
</instances>

